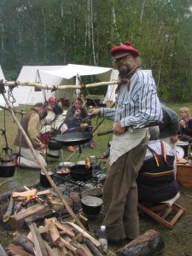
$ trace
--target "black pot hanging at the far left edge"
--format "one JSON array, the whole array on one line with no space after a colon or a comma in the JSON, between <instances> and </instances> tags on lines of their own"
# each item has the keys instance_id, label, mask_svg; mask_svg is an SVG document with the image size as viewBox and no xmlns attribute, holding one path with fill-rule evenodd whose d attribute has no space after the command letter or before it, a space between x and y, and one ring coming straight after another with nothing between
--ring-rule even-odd
<instances>
[{"instance_id":1,"label":"black pot hanging at the far left edge","mask_svg":"<svg viewBox=\"0 0 192 256\"><path fill-rule=\"evenodd\" d=\"M15 175L15 163L9 158L1 158L0 177L13 177Z\"/></svg>"}]
</instances>

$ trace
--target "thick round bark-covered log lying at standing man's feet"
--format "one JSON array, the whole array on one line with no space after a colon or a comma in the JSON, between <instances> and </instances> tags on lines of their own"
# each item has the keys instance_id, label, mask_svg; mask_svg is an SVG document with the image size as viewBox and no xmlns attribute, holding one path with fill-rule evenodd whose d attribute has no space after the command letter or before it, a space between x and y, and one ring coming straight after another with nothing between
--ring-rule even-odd
<instances>
[{"instance_id":1,"label":"thick round bark-covered log lying at standing man's feet","mask_svg":"<svg viewBox=\"0 0 192 256\"><path fill-rule=\"evenodd\" d=\"M120 248L116 254L118 256L153 256L156 253L161 253L165 247L160 233L155 230L148 230L142 236L137 236L136 239Z\"/></svg>"}]
</instances>

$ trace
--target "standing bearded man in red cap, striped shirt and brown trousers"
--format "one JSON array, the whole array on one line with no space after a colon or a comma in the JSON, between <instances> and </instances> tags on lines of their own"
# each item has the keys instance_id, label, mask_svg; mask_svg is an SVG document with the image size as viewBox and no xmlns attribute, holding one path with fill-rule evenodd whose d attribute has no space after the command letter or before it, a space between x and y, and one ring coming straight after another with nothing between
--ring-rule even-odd
<instances>
[{"instance_id":1,"label":"standing bearded man in red cap, striped shirt and brown trousers","mask_svg":"<svg viewBox=\"0 0 192 256\"><path fill-rule=\"evenodd\" d=\"M162 113L154 79L140 69L139 51L125 42L110 54L119 70L115 108L90 109L90 117L99 115L114 121L110 171L103 189L103 224L108 242L120 245L139 235L136 177L148 142L148 128L143 127L160 121Z\"/></svg>"}]
</instances>

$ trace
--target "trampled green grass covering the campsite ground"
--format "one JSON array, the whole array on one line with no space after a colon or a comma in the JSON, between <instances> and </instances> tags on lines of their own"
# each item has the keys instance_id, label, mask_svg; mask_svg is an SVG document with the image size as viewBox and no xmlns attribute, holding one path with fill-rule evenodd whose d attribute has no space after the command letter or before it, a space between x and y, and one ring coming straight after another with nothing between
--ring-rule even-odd
<instances>
[{"instance_id":1,"label":"trampled green grass covering the campsite ground","mask_svg":"<svg viewBox=\"0 0 192 256\"><path fill-rule=\"evenodd\" d=\"M179 115L179 108L186 106L188 108L192 109L192 104L184 103L184 104L167 104L168 107L172 108L177 112ZM24 111L27 111L30 107L29 106L21 106L17 109L23 109ZM20 120L20 114L16 114L17 118ZM13 145L15 136L17 133L17 125L13 121L13 118L11 114L6 111L5 113L5 123L4 123L4 111L0 111L0 129L6 130L6 134L8 137L8 143L9 148L12 148L15 150L15 147ZM93 125L96 126L96 124L101 121L101 119L93 119ZM96 141L96 148L92 149L89 148L87 145L83 147L82 154L79 155L79 153L76 153L70 161L77 162L78 160L84 160L86 156L95 155L96 157L100 157L102 152L104 152L107 148L108 141L112 139L112 135L105 135L98 137L96 134L99 131L107 131L112 128L113 123L109 120L104 120L102 125L98 127L98 129L94 132L95 136L94 139ZM1 148L5 146L4 138L0 137L0 144ZM67 160L67 158L70 156L70 152L67 151L67 148L64 148L64 160ZM55 166L58 165L58 163L61 161L54 160L54 159L48 159L48 169L53 169ZM102 163L102 167L108 168L108 160L105 163ZM30 173L32 175L30 175ZM18 169L15 173L15 177L8 178L8 183L3 183L3 178L0 178L0 193L3 193L5 190L11 190L13 187L17 187L18 184L23 185L26 181L27 184L32 184L34 181L39 180L39 172L37 171L28 171L28 170L21 170ZM3 183L3 185L2 185ZM25 185L27 185L25 183ZM147 230L157 230L160 232L160 235L163 237L165 241L165 252L163 255L169 255L169 256L187 256L192 255L192 243L191 243L191 232L192 232L192 190L191 189L179 189L181 197L177 200L178 204L180 204L182 207L186 209L186 214L184 214L175 225L173 230L167 230L160 224L157 224L152 220L151 218L148 218L145 215L140 216L140 229L141 234L143 234ZM116 248L112 248L113 250Z\"/></svg>"}]
</instances>

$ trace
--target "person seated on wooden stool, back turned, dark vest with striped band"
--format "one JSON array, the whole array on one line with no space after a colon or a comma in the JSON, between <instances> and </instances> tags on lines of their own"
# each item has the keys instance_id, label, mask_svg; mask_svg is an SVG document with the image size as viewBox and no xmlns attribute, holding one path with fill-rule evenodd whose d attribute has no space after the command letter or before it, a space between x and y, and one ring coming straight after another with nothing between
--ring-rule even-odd
<instances>
[{"instance_id":1,"label":"person seated on wooden stool, back turned, dark vest with striped band","mask_svg":"<svg viewBox=\"0 0 192 256\"><path fill-rule=\"evenodd\" d=\"M138 201L157 204L177 195L177 181L173 171L174 152L162 140L148 142L143 166L138 172Z\"/></svg>"}]
</instances>

